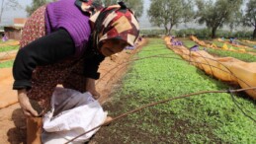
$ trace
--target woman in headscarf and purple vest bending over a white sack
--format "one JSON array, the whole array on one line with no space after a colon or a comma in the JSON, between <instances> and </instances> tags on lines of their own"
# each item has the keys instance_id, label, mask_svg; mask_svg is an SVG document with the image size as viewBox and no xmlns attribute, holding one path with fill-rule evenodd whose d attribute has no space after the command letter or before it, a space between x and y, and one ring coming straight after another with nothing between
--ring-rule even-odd
<instances>
[{"instance_id":1,"label":"woman in headscarf and purple vest bending over a white sack","mask_svg":"<svg viewBox=\"0 0 256 144\"><path fill-rule=\"evenodd\" d=\"M59 0L37 10L26 23L13 67L13 89L27 116L39 116L30 100L49 108L58 84L95 98L99 64L133 45L139 30L132 12L102 8L92 0Z\"/></svg>"}]
</instances>

